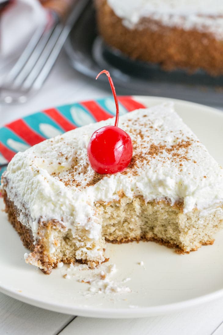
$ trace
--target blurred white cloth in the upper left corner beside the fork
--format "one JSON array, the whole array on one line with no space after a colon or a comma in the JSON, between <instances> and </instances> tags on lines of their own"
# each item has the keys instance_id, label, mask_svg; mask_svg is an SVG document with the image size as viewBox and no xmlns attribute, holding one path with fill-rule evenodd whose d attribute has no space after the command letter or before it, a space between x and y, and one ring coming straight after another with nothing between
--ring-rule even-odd
<instances>
[{"instance_id":1,"label":"blurred white cloth in the upper left corner beside the fork","mask_svg":"<svg viewBox=\"0 0 223 335\"><path fill-rule=\"evenodd\" d=\"M21 53L35 29L46 20L47 12L38 0L16 0L2 12L0 68Z\"/></svg>"}]
</instances>

